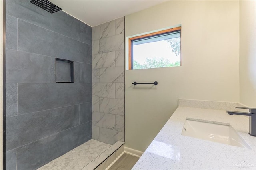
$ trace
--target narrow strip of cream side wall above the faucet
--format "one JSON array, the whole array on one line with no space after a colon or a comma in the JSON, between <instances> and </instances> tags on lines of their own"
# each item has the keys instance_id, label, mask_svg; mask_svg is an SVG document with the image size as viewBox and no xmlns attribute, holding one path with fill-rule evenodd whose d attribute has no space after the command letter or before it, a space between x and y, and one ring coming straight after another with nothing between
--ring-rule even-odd
<instances>
[{"instance_id":1,"label":"narrow strip of cream side wall above the faucet","mask_svg":"<svg viewBox=\"0 0 256 170\"><path fill-rule=\"evenodd\" d=\"M240 1L240 103L256 107L256 3Z\"/></svg>"}]
</instances>

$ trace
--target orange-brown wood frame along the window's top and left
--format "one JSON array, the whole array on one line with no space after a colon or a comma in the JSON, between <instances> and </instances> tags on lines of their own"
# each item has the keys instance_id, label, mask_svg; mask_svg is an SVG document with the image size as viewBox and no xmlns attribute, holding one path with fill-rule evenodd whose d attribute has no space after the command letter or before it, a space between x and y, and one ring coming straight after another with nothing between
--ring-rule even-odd
<instances>
[{"instance_id":1,"label":"orange-brown wood frame along the window's top and left","mask_svg":"<svg viewBox=\"0 0 256 170\"><path fill-rule=\"evenodd\" d=\"M150 36L156 36L158 34L164 34L164 33L174 32L174 31L178 31L178 30L181 30L181 26L129 38L129 70L132 69L132 40L136 40L136 39L139 39L139 38L150 37Z\"/></svg>"}]
</instances>

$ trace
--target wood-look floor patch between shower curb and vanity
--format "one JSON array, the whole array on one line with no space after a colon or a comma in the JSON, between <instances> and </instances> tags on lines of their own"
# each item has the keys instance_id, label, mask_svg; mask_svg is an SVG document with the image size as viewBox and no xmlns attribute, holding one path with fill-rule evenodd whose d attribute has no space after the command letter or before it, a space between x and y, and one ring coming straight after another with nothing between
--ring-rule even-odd
<instances>
[{"instance_id":1,"label":"wood-look floor patch between shower curb and vanity","mask_svg":"<svg viewBox=\"0 0 256 170\"><path fill-rule=\"evenodd\" d=\"M131 170L138 160L138 157L124 153L109 170Z\"/></svg>"}]
</instances>

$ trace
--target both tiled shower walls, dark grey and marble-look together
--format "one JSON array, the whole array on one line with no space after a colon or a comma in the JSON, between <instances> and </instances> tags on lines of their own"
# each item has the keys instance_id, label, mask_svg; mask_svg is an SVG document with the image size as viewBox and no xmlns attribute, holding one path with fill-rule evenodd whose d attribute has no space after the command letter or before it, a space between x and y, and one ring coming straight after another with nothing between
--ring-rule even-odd
<instances>
[{"instance_id":1,"label":"both tiled shower walls, dark grey and marble-look together","mask_svg":"<svg viewBox=\"0 0 256 170\"><path fill-rule=\"evenodd\" d=\"M6 1L6 169L40 168L92 138L124 141L124 18L91 28Z\"/></svg>"}]
</instances>

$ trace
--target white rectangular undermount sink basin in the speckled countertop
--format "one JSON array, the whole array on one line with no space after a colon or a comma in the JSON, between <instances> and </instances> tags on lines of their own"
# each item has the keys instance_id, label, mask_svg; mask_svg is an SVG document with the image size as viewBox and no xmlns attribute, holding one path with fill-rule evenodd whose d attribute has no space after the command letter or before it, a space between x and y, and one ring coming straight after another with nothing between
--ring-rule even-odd
<instances>
[{"instance_id":1,"label":"white rectangular undermount sink basin in the speckled countertop","mask_svg":"<svg viewBox=\"0 0 256 170\"><path fill-rule=\"evenodd\" d=\"M186 118L182 135L251 149L229 123Z\"/></svg>"}]
</instances>

